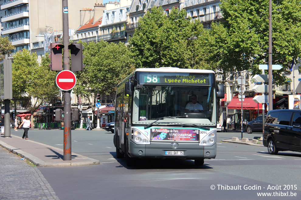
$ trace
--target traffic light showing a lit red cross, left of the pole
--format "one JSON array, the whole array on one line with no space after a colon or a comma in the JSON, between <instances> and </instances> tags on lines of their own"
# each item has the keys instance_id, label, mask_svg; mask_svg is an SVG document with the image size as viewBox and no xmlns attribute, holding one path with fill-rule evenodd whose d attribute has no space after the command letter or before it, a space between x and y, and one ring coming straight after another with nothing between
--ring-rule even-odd
<instances>
[{"instance_id":1,"label":"traffic light showing a lit red cross, left of the pole","mask_svg":"<svg viewBox=\"0 0 301 200\"><path fill-rule=\"evenodd\" d=\"M60 43L50 43L50 70L52 71L62 71L63 69L63 62L62 62L62 52L64 45Z\"/></svg>"}]
</instances>

